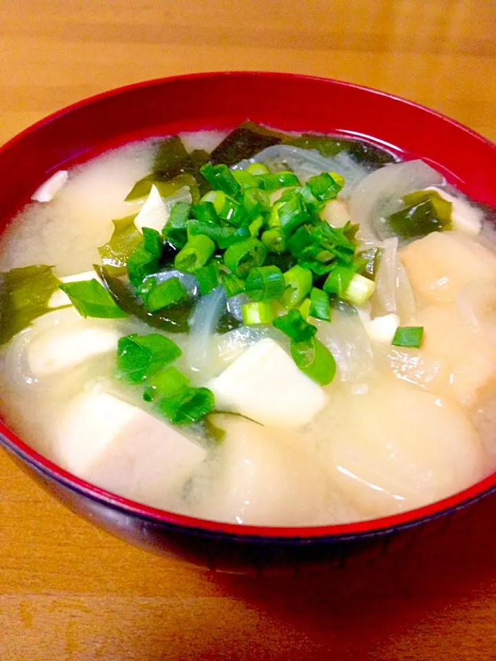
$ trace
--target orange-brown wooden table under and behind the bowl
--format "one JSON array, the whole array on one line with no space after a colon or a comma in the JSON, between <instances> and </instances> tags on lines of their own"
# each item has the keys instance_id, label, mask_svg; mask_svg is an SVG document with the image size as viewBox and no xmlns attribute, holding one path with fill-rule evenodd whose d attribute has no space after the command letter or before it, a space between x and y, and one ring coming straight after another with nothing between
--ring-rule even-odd
<instances>
[{"instance_id":1,"label":"orange-brown wooden table under and behind the bowl","mask_svg":"<svg viewBox=\"0 0 496 661\"><path fill-rule=\"evenodd\" d=\"M0 143L101 90L227 68L378 87L496 140L491 0L0 0ZM495 515L302 576L211 574L114 540L1 454L0 660L496 658Z\"/></svg>"}]
</instances>

